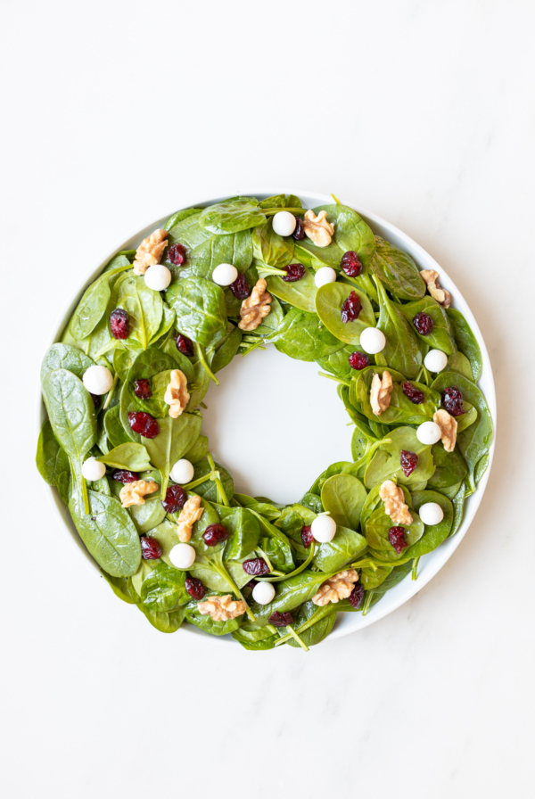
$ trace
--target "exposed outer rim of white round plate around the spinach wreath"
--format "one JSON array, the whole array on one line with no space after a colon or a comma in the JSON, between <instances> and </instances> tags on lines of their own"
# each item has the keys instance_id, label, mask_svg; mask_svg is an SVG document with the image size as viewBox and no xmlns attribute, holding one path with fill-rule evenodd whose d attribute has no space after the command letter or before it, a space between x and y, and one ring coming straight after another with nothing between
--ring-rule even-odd
<instances>
[{"instance_id":1,"label":"exposed outer rim of white round plate around the spinach wreath","mask_svg":"<svg viewBox=\"0 0 535 799\"><path fill-rule=\"evenodd\" d=\"M236 192L231 192L226 196L236 196ZM274 194L295 194L300 197L301 202L303 205L308 208L315 208L317 205L325 205L328 203L333 202L333 198L327 194L311 194L310 192L299 192L295 191L294 189L281 189L276 188L272 190L263 189L250 189L250 190L243 190L240 192L242 196L249 196L249 197L257 197L258 199L264 199L266 197L273 196ZM207 205L212 205L215 202L220 202L221 200L226 199L226 197L215 197L212 199L193 199L192 202L185 202L182 204L182 208L192 208L192 207L202 207ZM391 225L390 222L386 222L384 219L376 216L369 211L366 211L358 206L356 202L350 202L349 200L342 199L345 205L349 205L350 208L355 209L358 211L360 216L366 219L368 225L372 228L376 235L381 235L384 239L395 244L401 250L405 250L415 259L418 268L420 269L435 269L440 274L440 284L447 289L453 298L453 304L455 308L461 311L465 315L465 318L468 324L472 327L473 334L477 338L480 347L481 347L481 354L483 358L483 370L482 375L479 380L479 386L481 391L485 395L487 402L490 408L490 414L492 415L492 419L494 421L494 440L490 446L490 453L489 453L489 465L487 468L486 473L483 475L481 482L478 485L477 490L472 494L465 501L465 515L463 518L463 523L461 524L459 530L457 531L456 535L453 536L451 539L445 540L440 547L435 549L429 555L425 555L420 559L418 564L418 579L413 581L410 579L410 575L406 577L405 580L401 581L399 585L395 588L388 591L384 597L381 599L381 602L378 602L377 605L374 605L370 611L366 614L366 616L362 616L362 614L340 614L338 616L336 625L333 629L333 632L330 634L327 640L331 640L333 638L341 638L344 635L349 635L350 632L355 632L356 630L362 630L362 628L367 627L368 624L373 624L374 622L379 621L379 619L383 619L383 616L390 614L392 611L396 610L400 605L403 605L407 602L408 599L414 597L415 594L424 588L424 585L432 580L434 575L440 571L442 566L449 560L449 558L453 555L461 541L464 539L470 524L472 523L473 517L477 512L478 507L480 506L481 499L483 498L483 494L487 487L487 482L489 481L490 475L490 467L492 465L492 458L494 456L494 448L495 448L495 441L496 441L496 391L494 387L494 378L492 375L492 368L490 367L490 358L489 353L487 352L487 348L485 346L485 342L483 341L483 337L481 335L481 330L477 322L475 321L472 311L469 309L468 305L466 304L465 298L457 289L456 284L452 281L449 275L444 271L443 268L439 266L439 264L432 259L431 255L426 252L419 244L417 244L413 239L410 238L407 234L403 233L399 230L398 227L394 227ZM59 317L58 324L55 326L55 330L53 333L52 338L47 344L47 348L50 347L54 342L58 342L61 339L63 329L67 322L70 319L70 316L76 306L78 305L78 301L80 300L82 294L86 291L86 288L89 284L93 283L93 281L98 277L105 265L108 261L115 255L116 252L121 250L133 250L138 247L138 245L143 241L143 239L152 233L152 231L156 227L163 227L167 219L171 216L171 214L175 213L178 208L172 208L169 210L169 213L165 214L159 219L156 219L150 225L145 227L143 230L138 231L136 234L130 236L127 241L122 242L116 248L115 251L111 252L101 263L96 265L94 268L88 270L86 273L85 280L82 284L80 284L80 289L77 296L73 299L67 309L64 309L61 316ZM39 386L39 394L38 394L38 401L37 401L37 429L40 430L41 424L45 419L45 407L43 405L43 401L41 399L41 391ZM57 492L57 490L46 486L48 489L47 493L49 497L53 501L53 506L56 509L56 512L62 517L65 526L67 527L68 531L70 532L70 540L74 541L78 546L80 552L86 558L86 562L91 564L95 568L95 573L98 574L98 567L95 564L93 558L89 555L86 548L82 544L81 540L78 537L78 533L72 520L70 518L69 511L63 505L62 500ZM140 617L141 618L141 617ZM192 624L185 625L184 630L199 633L201 635L205 635L202 630L198 630L198 628L194 627ZM233 639L229 636L224 638L214 638L215 641L229 641L233 642Z\"/></svg>"}]
</instances>

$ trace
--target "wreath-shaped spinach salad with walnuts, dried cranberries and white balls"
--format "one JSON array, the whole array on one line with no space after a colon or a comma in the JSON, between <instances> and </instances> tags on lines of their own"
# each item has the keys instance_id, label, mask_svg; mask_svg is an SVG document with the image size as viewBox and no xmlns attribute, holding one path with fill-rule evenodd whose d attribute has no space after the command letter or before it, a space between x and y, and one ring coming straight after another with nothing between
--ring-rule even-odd
<instances>
[{"instance_id":1,"label":"wreath-shaped spinach salad with walnuts, dried cranberries and white balls","mask_svg":"<svg viewBox=\"0 0 535 799\"><path fill-rule=\"evenodd\" d=\"M284 194L180 210L111 259L45 354L37 467L114 593L162 632L308 649L416 579L492 439L438 278L340 202ZM288 506L237 493L202 434L210 381L267 343L316 361L354 424L352 461Z\"/></svg>"}]
</instances>

